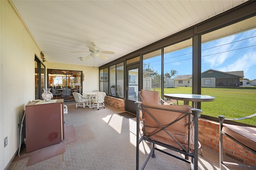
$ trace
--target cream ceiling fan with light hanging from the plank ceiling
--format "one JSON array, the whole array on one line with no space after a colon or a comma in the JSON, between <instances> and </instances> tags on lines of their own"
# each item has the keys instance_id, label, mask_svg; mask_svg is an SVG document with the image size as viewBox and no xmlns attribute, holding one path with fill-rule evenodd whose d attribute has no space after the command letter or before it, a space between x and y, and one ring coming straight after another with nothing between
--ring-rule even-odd
<instances>
[{"instance_id":1,"label":"cream ceiling fan with light hanging from the plank ceiling","mask_svg":"<svg viewBox=\"0 0 256 170\"><path fill-rule=\"evenodd\" d=\"M96 43L92 42L93 47L87 46L89 48L89 51L74 51L71 53L80 53L80 52L88 52L90 53L86 58L80 57L81 61L84 61L85 59L90 59L90 57L101 57L102 59L108 60L108 57L106 57L103 54L115 54L113 51L100 51L98 47L96 47ZM102 54L103 53L103 54Z\"/></svg>"}]
</instances>

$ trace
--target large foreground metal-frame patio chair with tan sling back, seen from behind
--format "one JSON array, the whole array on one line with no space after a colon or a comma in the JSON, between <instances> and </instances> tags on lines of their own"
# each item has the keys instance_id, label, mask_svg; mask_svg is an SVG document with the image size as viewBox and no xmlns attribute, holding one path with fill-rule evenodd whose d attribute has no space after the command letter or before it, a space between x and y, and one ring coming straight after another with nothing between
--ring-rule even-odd
<instances>
[{"instance_id":1,"label":"large foreground metal-frame patio chair with tan sling back, seen from behind","mask_svg":"<svg viewBox=\"0 0 256 170\"><path fill-rule=\"evenodd\" d=\"M159 105L148 102L135 102L137 115L142 110L143 124L140 133L140 118L137 117L136 136L136 170L139 169L140 143L145 140L152 143L141 169L144 169L150 156L156 157L155 150L168 154L191 164L191 169L198 169L198 119L202 111L192 109L189 105ZM168 150L162 150L155 145L174 150L185 155L176 156ZM189 160L189 157L191 158Z\"/></svg>"}]
</instances>

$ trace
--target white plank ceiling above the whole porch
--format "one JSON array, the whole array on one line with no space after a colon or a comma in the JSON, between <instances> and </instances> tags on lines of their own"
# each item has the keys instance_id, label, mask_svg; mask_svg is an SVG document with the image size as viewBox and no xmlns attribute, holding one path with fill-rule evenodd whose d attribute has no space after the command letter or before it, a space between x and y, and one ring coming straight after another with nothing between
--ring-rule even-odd
<instances>
[{"instance_id":1,"label":"white plank ceiling above the whole porch","mask_svg":"<svg viewBox=\"0 0 256 170\"><path fill-rule=\"evenodd\" d=\"M48 62L84 61L96 42L109 59L95 67L234 8L246 0L12 0ZM40 57L40 56L38 56Z\"/></svg>"}]
</instances>

